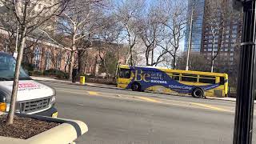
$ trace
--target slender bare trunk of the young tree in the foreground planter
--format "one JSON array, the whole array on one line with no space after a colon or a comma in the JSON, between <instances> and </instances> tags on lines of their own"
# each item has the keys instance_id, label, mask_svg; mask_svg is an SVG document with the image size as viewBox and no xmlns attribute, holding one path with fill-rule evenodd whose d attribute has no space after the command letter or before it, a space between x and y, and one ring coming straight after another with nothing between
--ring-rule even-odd
<instances>
[{"instance_id":1,"label":"slender bare trunk of the young tree in the foreground planter","mask_svg":"<svg viewBox=\"0 0 256 144\"><path fill-rule=\"evenodd\" d=\"M19 49L18 49L18 58L15 66L15 73L14 73L14 83L13 83L13 90L11 94L10 99L10 110L8 113L8 119L7 124L13 124L14 123L14 112L15 112L15 103L17 99L17 93L18 93L18 79L19 79L19 73L20 68L22 65L22 56L23 56L23 49L26 41L26 27L22 27L22 36L21 36L21 42L19 43Z\"/></svg>"}]
</instances>

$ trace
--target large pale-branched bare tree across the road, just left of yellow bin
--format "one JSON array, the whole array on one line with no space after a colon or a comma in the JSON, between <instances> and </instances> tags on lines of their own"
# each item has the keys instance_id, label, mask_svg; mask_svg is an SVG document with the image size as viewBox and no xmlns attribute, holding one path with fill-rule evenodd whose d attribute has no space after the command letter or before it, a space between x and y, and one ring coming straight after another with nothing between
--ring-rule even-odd
<instances>
[{"instance_id":1,"label":"large pale-branched bare tree across the road, just left of yellow bin","mask_svg":"<svg viewBox=\"0 0 256 144\"><path fill-rule=\"evenodd\" d=\"M62 40L57 41L56 36L45 31L59 45L70 48L70 79L74 67L74 54L80 49L86 49L79 47L79 43L81 41L91 42L94 32L104 27L98 20L104 15L102 8L105 6L104 0L70 0L58 21L58 31L63 37Z\"/></svg>"}]
</instances>

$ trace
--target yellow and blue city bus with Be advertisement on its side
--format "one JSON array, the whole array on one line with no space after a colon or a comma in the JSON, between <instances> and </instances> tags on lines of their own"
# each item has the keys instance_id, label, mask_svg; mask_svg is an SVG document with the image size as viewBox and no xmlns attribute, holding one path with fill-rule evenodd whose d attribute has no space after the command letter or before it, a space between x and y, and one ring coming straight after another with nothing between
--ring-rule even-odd
<instances>
[{"instance_id":1,"label":"yellow and blue city bus with Be advertisement on its side","mask_svg":"<svg viewBox=\"0 0 256 144\"><path fill-rule=\"evenodd\" d=\"M191 94L194 98L226 97L228 75L154 66L118 66L117 86L134 91Z\"/></svg>"}]
</instances>

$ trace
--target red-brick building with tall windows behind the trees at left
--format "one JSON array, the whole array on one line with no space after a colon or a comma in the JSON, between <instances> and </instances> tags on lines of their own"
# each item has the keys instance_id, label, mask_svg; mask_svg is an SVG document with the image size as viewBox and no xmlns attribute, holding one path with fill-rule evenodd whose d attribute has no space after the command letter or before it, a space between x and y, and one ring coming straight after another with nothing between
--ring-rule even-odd
<instances>
[{"instance_id":1,"label":"red-brick building with tall windows behind the trees at left","mask_svg":"<svg viewBox=\"0 0 256 144\"><path fill-rule=\"evenodd\" d=\"M93 42L98 43L98 42ZM0 29L0 51L13 54L14 53L14 43L10 44L8 33L6 30ZM123 46L118 46L117 44L104 44L100 46L90 46L86 49L86 54L84 55L85 63L85 74L98 75L98 70L102 62L101 58L104 58L106 52L111 50L111 53L118 58L118 61L122 64L125 63L125 58L123 54L119 54L118 49L123 50ZM78 52L75 53L75 63L74 68L78 68ZM26 64L31 64L36 71L43 72L44 70L62 70L68 73L70 64L70 50L68 48L63 48L50 42L47 38L33 39L27 38L26 46L23 52L22 61Z\"/></svg>"}]
</instances>

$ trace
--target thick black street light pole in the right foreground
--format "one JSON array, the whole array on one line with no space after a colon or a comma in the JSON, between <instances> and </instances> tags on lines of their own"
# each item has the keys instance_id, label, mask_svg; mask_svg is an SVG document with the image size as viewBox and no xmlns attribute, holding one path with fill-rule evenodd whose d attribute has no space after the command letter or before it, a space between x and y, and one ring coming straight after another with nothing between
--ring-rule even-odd
<instances>
[{"instance_id":1,"label":"thick black street light pole in the right foreground","mask_svg":"<svg viewBox=\"0 0 256 144\"><path fill-rule=\"evenodd\" d=\"M233 144L251 144L256 70L255 0L243 1L243 30Z\"/></svg>"}]
</instances>

